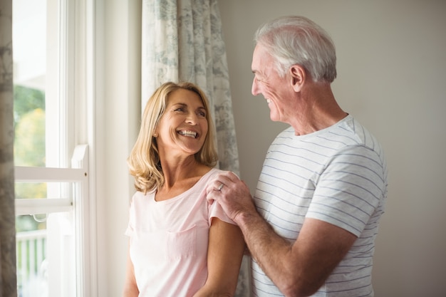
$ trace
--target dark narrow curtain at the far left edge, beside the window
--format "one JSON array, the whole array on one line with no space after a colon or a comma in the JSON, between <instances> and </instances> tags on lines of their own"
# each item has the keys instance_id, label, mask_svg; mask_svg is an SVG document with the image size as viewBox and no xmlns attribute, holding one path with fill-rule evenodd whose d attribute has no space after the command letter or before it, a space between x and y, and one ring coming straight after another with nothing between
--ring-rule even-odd
<instances>
[{"instance_id":1,"label":"dark narrow curtain at the far left edge, beside the window","mask_svg":"<svg viewBox=\"0 0 446 297\"><path fill-rule=\"evenodd\" d=\"M12 1L0 2L0 297L17 296L14 214Z\"/></svg>"}]
</instances>

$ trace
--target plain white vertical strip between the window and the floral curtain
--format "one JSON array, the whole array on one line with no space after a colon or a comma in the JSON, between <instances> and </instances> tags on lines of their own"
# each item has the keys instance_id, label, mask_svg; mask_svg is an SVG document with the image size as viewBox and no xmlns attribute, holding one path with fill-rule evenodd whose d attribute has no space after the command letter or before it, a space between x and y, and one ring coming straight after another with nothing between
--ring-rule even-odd
<instances>
[{"instance_id":1,"label":"plain white vertical strip between the window and the floral curtain","mask_svg":"<svg viewBox=\"0 0 446 297\"><path fill-rule=\"evenodd\" d=\"M120 297L128 248L124 232L135 192L126 160L140 123L141 1L95 3L97 296Z\"/></svg>"}]
</instances>

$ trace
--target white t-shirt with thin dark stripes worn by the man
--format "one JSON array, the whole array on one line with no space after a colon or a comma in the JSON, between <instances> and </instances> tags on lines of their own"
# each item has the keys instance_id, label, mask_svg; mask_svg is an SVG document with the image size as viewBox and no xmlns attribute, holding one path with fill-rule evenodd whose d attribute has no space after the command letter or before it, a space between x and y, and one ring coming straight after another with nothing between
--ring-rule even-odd
<instances>
[{"instance_id":1,"label":"white t-shirt with thin dark stripes worn by the man","mask_svg":"<svg viewBox=\"0 0 446 297\"><path fill-rule=\"evenodd\" d=\"M375 137L351 115L326 129L296 136L289 127L269 147L254 200L277 234L294 242L304 219L358 236L313 296L373 296L372 257L387 196L387 165ZM254 296L283 296L252 263Z\"/></svg>"}]
</instances>

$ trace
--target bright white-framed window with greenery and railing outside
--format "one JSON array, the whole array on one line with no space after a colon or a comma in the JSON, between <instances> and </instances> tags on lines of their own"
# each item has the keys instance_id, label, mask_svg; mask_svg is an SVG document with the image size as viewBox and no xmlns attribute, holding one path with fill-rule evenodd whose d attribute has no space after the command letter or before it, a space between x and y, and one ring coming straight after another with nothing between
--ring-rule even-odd
<instances>
[{"instance_id":1,"label":"bright white-framed window with greenery and railing outside","mask_svg":"<svg viewBox=\"0 0 446 297\"><path fill-rule=\"evenodd\" d=\"M13 0L19 296L95 296L85 80L93 4ZM76 61L76 63L75 63Z\"/></svg>"}]
</instances>

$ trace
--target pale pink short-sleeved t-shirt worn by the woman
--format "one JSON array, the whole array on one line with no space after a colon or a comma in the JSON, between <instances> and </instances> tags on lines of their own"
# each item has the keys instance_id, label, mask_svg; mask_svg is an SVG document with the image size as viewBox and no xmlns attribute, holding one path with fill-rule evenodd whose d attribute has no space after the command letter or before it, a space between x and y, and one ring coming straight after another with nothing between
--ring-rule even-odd
<instances>
[{"instance_id":1,"label":"pale pink short-sleeved t-shirt worn by the woman","mask_svg":"<svg viewBox=\"0 0 446 297\"><path fill-rule=\"evenodd\" d=\"M188 297L207 278L207 244L212 217L234 224L205 187L212 169L177 197L155 201L155 192L136 192L130 206L130 258L140 297Z\"/></svg>"}]
</instances>

